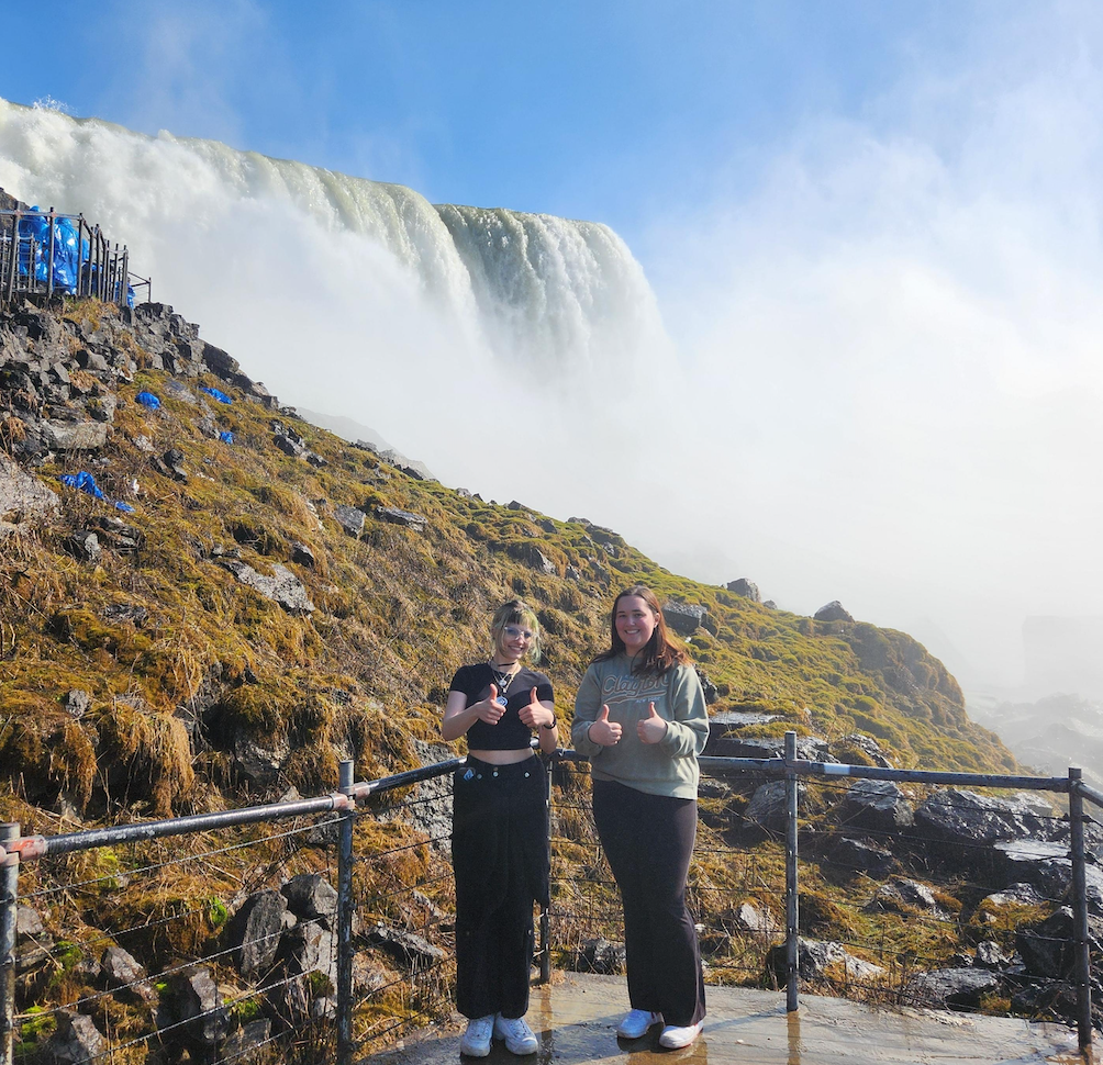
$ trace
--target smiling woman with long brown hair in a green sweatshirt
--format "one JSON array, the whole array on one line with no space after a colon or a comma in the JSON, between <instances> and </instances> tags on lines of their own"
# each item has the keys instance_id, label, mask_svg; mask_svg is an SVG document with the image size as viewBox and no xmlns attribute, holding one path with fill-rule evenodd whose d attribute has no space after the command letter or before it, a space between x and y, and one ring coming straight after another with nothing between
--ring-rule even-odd
<instances>
[{"instance_id":1,"label":"smiling woman with long brown hair in a green sweatshirt","mask_svg":"<svg viewBox=\"0 0 1103 1065\"><path fill-rule=\"evenodd\" d=\"M686 876L697 832L697 756L708 739L700 680L666 632L654 592L621 592L610 645L575 701L571 742L590 759L593 820L624 907L631 1009L617 1028L688 1046L705 1019L705 981Z\"/></svg>"}]
</instances>

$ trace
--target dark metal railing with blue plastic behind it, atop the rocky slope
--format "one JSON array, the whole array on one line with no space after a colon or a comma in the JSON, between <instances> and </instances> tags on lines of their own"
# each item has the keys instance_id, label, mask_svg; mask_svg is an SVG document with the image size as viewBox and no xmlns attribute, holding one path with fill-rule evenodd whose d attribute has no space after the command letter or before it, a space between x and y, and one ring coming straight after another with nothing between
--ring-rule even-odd
<instances>
[{"instance_id":1,"label":"dark metal railing with blue plastic behind it, atop the rocky slope","mask_svg":"<svg viewBox=\"0 0 1103 1065\"><path fill-rule=\"evenodd\" d=\"M152 299L152 280L130 272L127 246L113 245L84 215L0 211L0 306L55 293L125 306L139 288Z\"/></svg>"}]
</instances>

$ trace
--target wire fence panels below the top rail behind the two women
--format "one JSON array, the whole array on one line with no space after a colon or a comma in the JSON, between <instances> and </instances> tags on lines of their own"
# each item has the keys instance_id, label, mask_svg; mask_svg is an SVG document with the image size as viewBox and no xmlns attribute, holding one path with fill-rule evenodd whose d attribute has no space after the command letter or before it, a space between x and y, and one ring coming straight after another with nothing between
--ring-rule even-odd
<instances>
[{"instance_id":1,"label":"wire fence panels below the top rail behind the two women","mask_svg":"<svg viewBox=\"0 0 1103 1065\"><path fill-rule=\"evenodd\" d=\"M460 764L370 784L350 775L318 799L9 839L9 1059L350 1061L450 1015L449 774ZM1016 815L1057 857L1048 881L1003 897L994 884L1009 874L989 868L992 840L932 846L929 826L892 819L896 785L783 760L703 765L688 893L708 982L781 989L800 976L867 1002L1063 1016L1082 1013L1089 988L1090 1009L1083 825L1071 810L1038 803ZM888 813L871 817L856 793ZM543 960L622 972L590 794L585 760L554 761ZM949 819L976 813L972 792L923 781L908 795L935 796ZM1052 979L1016 970L1027 947L1057 958ZM940 973L966 968L968 994L939 999Z\"/></svg>"}]
</instances>

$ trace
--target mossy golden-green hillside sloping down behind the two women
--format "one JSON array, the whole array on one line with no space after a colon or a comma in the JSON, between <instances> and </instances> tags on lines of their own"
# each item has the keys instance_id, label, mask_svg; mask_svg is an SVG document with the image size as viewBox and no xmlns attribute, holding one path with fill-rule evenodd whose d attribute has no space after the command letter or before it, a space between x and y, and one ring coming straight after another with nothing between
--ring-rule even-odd
<instances>
[{"instance_id":1,"label":"mossy golden-green hillside sloping down behind the two women","mask_svg":"<svg viewBox=\"0 0 1103 1065\"><path fill-rule=\"evenodd\" d=\"M103 322L116 312L84 303L69 313ZM117 326L115 335L128 334ZM142 349L130 344L140 367ZM274 788L332 787L340 756L354 756L360 776L408 767L410 739L436 736L452 671L488 652L490 613L511 595L539 611L544 668L567 719L607 638L612 594L636 581L663 600L708 609L689 644L719 691L714 710L769 711L774 730L827 739L864 732L902 765L1015 764L967 720L941 663L902 633L767 609L671 573L614 532L462 495L298 420L325 464L290 458L260 404L214 376L185 380L193 395L206 385L235 399L204 411L170 392L169 376L139 369L118 385L94 466L110 498L128 497L137 480L141 495L126 521L143 535L140 548L116 550L108 532L97 563L77 560L69 534L115 512L60 487L56 519L20 526L3 544L0 767L36 802L64 793L78 809L93 800L103 813L120 804L203 808L212 782L245 784L233 763L242 734L292 752ZM161 398L161 410L135 401L142 390ZM204 435L204 412L234 433L233 445ZM158 472L154 456L169 448L183 454L186 482ZM55 463L36 473L56 486L73 471ZM360 538L334 519L342 504L368 514ZM388 524L377 506L424 515L427 528ZM310 549L313 567L292 561L295 542ZM274 563L295 572L317 609L292 614L238 583L218 564L231 550L260 573ZM554 572L534 564L535 551ZM113 616L113 606L131 620L127 611ZM74 688L93 707L63 721Z\"/></svg>"}]
</instances>

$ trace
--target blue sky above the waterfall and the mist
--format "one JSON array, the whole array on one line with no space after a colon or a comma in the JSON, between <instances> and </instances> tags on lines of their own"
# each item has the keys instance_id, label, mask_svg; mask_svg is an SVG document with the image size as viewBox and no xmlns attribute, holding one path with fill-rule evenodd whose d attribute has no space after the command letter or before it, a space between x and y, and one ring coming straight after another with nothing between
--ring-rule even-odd
<instances>
[{"instance_id":1,"label":"blue sky above the waterfall and the mist","mask_svg":"<svg viewBox=\"0 0 1103 1065\"><path fill-rule=\"evenodd\" d=\"M671 0L43 0L0 96L223 140L435 202L607 222L710 194L810 117L863 118L1004 6ZM82 46L84 45L84 46ZM13 60L13 64L9 63ZM738 180L738 179L737 179Z\"/></svg>"}]
</instances>

